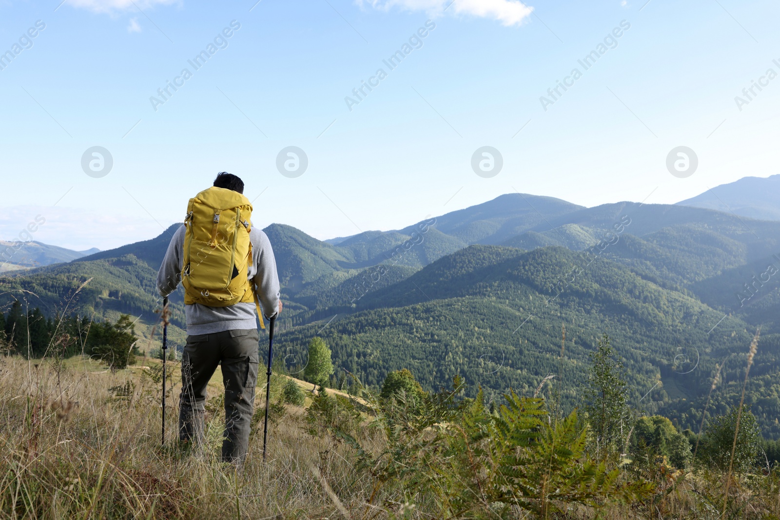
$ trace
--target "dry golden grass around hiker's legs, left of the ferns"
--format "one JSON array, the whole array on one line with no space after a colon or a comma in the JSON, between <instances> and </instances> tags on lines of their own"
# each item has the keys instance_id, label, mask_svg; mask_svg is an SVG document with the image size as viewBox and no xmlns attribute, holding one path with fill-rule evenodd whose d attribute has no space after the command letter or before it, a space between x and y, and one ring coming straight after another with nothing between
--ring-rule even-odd
<instances>
[{"instance_id":1,"label":"dry golden grass around hiker's legs, left of the ferns","mask_svg":"<svg viewBox=\"0 0 780 520\"><path fill-rule=\"evenodd\" d=\"M206 440L189 451L176 444L173 377L161 449L160 385L144 371L112 374L79 358L58 374L48 361L0 358L2 518L338 518L323 481L348 507L363 501L370 486L351 471L344 448L306 433L303 409L271 424L267 463L262 423L243 471L219 463L219 373ZM129 394L109 391L127 382Z\"/></svg>"}]
</instances>

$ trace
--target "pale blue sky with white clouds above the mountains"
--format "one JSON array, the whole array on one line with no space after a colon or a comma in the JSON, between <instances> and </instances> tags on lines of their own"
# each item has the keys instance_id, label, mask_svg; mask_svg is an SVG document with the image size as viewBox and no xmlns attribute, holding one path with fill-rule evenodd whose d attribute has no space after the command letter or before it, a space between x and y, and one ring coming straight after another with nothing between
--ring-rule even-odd
<instances>
[{"instance_id":1,"label":"pale blue sky with white clouds above the mountains","mask_svg":"<svg viewBox=\"0 0 780 520\"><path fill-rule=\"evenodd\" d=\"M780 78L735 101L780 73L776 2L255 2L0 2L0 52L29 47L0 70L0 239L37 215L34 239L58 246L151 238L223 170L246 182L255 225L319 239L515 190L674 203L777 173ZM578 60L623 20L585 70ZM383 60L426 23L390 70ZM540 97L575 68L545 111ZM191 77L176 80L183 69ZM386 77L348 107L378 69ZM95 146L113 158L101 178L81 165ZM296 178L276 167L289 146L309 161ZM471 166L484 146L503 157L487 179ZM699 160L686 179L665 166L678 146Z\"/></svg>"}]
</instances>

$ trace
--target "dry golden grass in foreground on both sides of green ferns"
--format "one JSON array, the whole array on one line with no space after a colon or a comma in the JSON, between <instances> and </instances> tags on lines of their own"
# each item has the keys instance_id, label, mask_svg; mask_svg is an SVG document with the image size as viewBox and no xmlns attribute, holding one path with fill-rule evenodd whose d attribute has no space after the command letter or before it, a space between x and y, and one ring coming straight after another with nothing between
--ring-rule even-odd
<instances>
[{"instance_id":1,"label":"dry golden grass in foreground on both sides of green ferns","mask_svg":"<svg viewBox=\"0 0 780 520\"><path fill-rule=\"evenodd\" d=\"M161 384L144 368L156 363L140 359L112 374L85 358L58 369L48 360L0 357L0 518L441 518L430 503L420 504L422 497L403 515L399 490L367 505L371 477L354 469L349 448L307 433L302 408L273 417L267 463L260 410L243 470L221 464L219 371L209 390L206 439L188 448L176 442L180 383L171 370L161 448ZM272 395L283 381L272 383ZM379 440L369 444L380 447ZM656 465L644 477L658 485L651 500L615 506L602 518L780 518L777 472L733 479L725 516L722 473ZM564 509L551 518L594 518L590 508ZM533 517L513 511L512 518Z\"/></svg>"}]
</instances>

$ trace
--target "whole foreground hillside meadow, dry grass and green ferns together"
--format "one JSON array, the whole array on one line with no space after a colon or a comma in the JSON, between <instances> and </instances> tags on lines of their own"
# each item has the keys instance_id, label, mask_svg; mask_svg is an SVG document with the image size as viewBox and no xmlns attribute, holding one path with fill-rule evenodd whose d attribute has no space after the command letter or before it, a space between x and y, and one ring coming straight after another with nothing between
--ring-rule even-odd
<instances>
[{"instance_id":1,"label":"whole foreground hillside meadow, dry grass and green ferns together","mask_svg":"<svg viewBox=\"0 0 780 520\"><path fill-rule=\"evenodd\" d=\"M456 390L417 405L402 394L388 409L370 392L362 399L312 394L310 384L293 380L307 395L296 406L282 402L290 378L275 375L268 460L259 409L246 465L236 469L218 462L219 372L209 386L204 443L183 446L175 438L179 371L168 363L161 447L160 367L144 357L115 373L84 356L0 357L0 515L617 520L780 513L775 469L735 472L724 501L725 476L704 465L675 469L657 455L644 465L598 464L576 414L558 417L554 402L532 395L509 396L498 412L479 398L456 399ZM258 387L256 400L263 399ZM502 471L510 455L523 466Z\"/></svg>"}]
</instances>

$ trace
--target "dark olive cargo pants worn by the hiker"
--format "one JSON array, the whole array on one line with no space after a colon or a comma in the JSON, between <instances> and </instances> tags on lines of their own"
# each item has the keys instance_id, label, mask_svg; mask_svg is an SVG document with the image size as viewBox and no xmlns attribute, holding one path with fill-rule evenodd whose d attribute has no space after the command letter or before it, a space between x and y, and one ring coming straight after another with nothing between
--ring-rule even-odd
<instances>
[{"instance_id":1,"label":"dark olive cargo pants worn by the hiker","mask_svg":"<svg viewBox=\"0 0 780 520\"><path fill-rule=\"evenodd\" d=\"M222 362L225 385L225 439L222 461L241 464L249 451L259 353L257 329L187 336L182 354L179 439L204 435L206 387Z\"/></svg>"}]
</instances>

